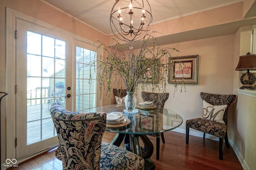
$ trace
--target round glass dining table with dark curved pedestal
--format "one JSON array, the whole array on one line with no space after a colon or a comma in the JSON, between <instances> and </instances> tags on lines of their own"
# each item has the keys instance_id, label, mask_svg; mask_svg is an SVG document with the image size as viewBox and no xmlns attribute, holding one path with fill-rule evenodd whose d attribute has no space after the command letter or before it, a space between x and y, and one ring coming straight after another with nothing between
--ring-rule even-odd
<instances>
[{"instance_id":1,"label":"round glass dining table with dark curved pedestal","mask_svg":"<svg viewBox=\"0 0 256 170\"><path fill-rule=\"evenodd\" d=\"M150 160L154 146L147 135L175 129L182 124L183 119L178 113L162 107L138 108L138 113L126 113L124 109L125 107L108 105L97 107L96 111L124 114L124 121L106 125L106 131L116 133L111 143L119 147L123 142L124 149L144 158L145 170L154 170L155 165ZM140 146L139 139L144 147Z\"/></svg>"}]
</instances>

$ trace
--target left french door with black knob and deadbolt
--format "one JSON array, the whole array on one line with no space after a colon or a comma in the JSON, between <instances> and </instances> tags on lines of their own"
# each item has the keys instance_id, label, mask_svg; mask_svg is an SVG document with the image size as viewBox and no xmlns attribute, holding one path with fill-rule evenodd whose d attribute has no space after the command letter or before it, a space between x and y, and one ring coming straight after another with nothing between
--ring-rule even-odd
<instances>
[{"instance_id":1,"label":"left french door with black knob and deadbolt","mask_svg":"<svg viewBox=\"0 0 256 170\"><path fill-rule=\"evenodd\" d=\"M72 37L16 19L16 158L58 145L50 105L72 94ZM68 50L69 49L69 50ZM68 58L67 56L70 56ZM70 84L68 83L70 82ZM66 90L70 86L71 90ZM72 98L72 96L71 96Z\"/></svg>"}]
</instances>

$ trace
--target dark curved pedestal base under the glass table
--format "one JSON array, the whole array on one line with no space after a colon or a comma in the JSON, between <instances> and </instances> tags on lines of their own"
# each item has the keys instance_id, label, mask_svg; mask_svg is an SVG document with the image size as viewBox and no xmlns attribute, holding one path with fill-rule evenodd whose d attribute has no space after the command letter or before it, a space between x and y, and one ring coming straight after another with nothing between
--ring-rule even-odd
<instances>
[{"instance_id":1,"label":"dark curved pedestal base under the glass table","mask_svg":"<svg viewBox=\"0 0 256 170\"><path fill-rule=\"evenodd\" d=\"M139 137L144 143L144 148L140 147ZM117 133L114 139L111 141L111 144L120 147L122 142L124 149L129 150L144 158L145 170L155 169L154 163L152 162L152 160L150 160L150 157L153 154L154 146L146 135Z\"/></svg>"}]
</instances>

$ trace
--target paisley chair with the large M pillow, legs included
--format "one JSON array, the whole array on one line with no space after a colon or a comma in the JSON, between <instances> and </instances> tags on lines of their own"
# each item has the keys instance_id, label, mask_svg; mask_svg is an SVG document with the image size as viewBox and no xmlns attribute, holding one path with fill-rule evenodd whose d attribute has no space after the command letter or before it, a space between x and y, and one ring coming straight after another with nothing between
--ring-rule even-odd
<instances>
[{"instance_id":1,"label":"paisley chair with the large M pillow, legs included","mask_svg":"<svg viewBox=\"0 0 256 170\"><path fill-rule=\"evenodd\" d=\"M188 144L189 139L189 128L202 131L204 139L206 133L216 136L219 138L219 159L223 160L223 139L225 140L226 147L230 147L227 134L228 108L236 99L236 95L201 92L200 96L203 100L202 116L186 121L186 144ZM223 118L222 116L219 117L221 113L223 113Z\"/></svg>"}]
</instances>

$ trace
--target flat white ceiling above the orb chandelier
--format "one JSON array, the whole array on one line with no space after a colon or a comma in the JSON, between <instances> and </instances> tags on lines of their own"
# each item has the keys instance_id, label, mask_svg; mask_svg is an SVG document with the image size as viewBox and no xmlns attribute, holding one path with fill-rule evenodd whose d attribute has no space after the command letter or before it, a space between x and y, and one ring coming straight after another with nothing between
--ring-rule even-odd
<instances>
[{"instance_id":1,"label":"flat white ceiling above the orb chandelier","mask_svg":"<svg viewBox=\"0 0 256 170\"><path fill-rule=\"evenodd\" d=\"M115 0L41 1L77 18L106 35L112 34L110 29L110 12ZM148 0L153 16L151 25L241 1L243 0Z\"/></svg>"}]
</instances>

